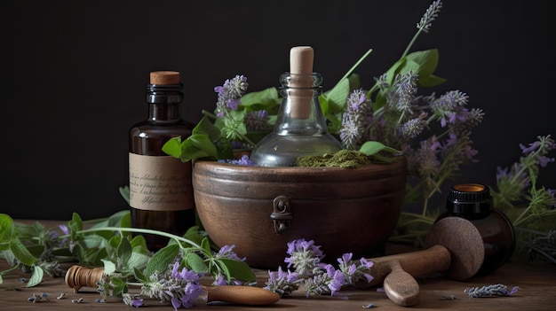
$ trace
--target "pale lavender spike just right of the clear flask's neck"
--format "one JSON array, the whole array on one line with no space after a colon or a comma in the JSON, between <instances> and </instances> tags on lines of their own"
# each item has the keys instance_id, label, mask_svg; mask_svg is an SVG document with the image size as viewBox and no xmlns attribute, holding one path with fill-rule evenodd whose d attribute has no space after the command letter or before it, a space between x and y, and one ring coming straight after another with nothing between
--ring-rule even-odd
<instances>
[{"instance_id":1,"label":"pale lavender spike just right of the clear flask's neck","mask_svg":"<svg viewBox=\"0 0 556 311\"><path fill-rule=\"evenodd\" d=\"M347 97L346 111L342 119L339 137L346 149L356 149L367 138L367 116L370 107L362 89L354 89Z\"/></svg>"}]
</instances>

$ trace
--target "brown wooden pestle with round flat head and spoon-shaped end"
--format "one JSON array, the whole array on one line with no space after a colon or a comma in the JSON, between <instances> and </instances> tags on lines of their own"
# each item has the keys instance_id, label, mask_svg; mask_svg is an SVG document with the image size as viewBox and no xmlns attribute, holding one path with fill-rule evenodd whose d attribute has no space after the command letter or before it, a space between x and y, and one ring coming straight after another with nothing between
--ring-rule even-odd
<instances>
[{"instance_id":1,"label":"brown wooden pestle with round flat head and spoon-shaped end","mask_svg":"<svg viewBox=\"0 0 556 311\"><path fill-rule=\"evenodd\" d=\"M479 272L485 256L481 233L472 222L459 217L435 222L425 247L423 251L370 259L374 279L369 285L382 283L388 298L409 307L418 302L419 285L414 277L442 273L463 281Z\"/></svg>"}]
</instances>

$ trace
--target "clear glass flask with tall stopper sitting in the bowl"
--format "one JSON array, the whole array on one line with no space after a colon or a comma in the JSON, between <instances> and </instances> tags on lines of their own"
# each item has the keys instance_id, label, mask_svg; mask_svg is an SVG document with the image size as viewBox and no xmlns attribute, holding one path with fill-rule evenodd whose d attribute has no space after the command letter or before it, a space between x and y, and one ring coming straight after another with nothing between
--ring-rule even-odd
<instances>
[{"instance_id":1,"label":"clear glass flask with tall stopper sitting in the bowl","mask_svg":"<svg viewBox=\"0 0 556 311\"><path fill-rule=\"evenodd\" d=\"M328 132L319 96L322 75L313 72L313 49L294 47L290 72L280 75L282 105L274 131L253 148L250 159L261 167L293 167L300 156L338 152L342 145Z\"/></svg>"}]
</instances>

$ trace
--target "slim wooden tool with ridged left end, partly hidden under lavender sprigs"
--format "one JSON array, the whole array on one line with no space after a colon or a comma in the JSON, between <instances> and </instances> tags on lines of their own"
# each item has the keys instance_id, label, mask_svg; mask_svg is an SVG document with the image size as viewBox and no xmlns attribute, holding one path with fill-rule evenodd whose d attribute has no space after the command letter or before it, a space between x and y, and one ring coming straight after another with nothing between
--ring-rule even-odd
<instances>
[{"instance_id":1,"label":"slim wooden tool with ridged left end, partly hidden under lavender sprigs","mask_svg":"<svg viewBox=\"0 0 556 311\"><path fill-rule=\"evenodd\" d=\"M98 287L97 283L104 276L104 268L86 268L78 265L71 266L66 273L66 284L78 292L82 287ZM203 286L206 291L206 302L223 301L240 305L262 306L270 305L280 300L275 292L255 286L220 285Z\"/></svg>"}]
</instances>

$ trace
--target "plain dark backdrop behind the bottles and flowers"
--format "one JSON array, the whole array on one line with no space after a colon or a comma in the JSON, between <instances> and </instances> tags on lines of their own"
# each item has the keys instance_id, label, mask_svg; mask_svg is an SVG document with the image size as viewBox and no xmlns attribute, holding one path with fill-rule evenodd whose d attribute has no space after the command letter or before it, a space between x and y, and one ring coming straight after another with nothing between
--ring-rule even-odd
<instances>
[{"instance_id":1,"label":"plain dark backdrop behind the bottles and flowers","mask_svg":"<svg viewBox=\"0 0 556 311\"><path fill-rule=\"evenodd\" d=\"M432 1L4 1L0 212L83 219L127 208L128 129L147 116L148 74L177 70L184 117L213 110L213 88L244 74L250 91L278 85L292 46L311 45L331 88L356 71L364 87L400 58ZM436 74L486 113L478 163L454 181L494 185L519 144L556 135L556 22L551 1L449 1L413 51L438 48ZM553 156L553 154L552 154ZM556 164L540 182L556 188Z\"/></svg>"}]
</instances>

